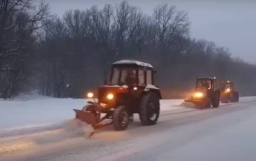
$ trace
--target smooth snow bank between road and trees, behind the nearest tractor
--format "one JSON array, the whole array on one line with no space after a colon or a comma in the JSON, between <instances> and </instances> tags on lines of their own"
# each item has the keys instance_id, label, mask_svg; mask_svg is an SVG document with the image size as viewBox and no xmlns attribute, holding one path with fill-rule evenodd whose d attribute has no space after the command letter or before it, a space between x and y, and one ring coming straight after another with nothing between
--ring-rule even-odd
<instances>
[{"instance_id":1,"label":"smooth snow bank between road and trees, behind the nearest tractor","mask_svg":"<svg viewBox=\"0 0 256 161\"><path fill-rule=\"evenodd\" d=\"M22 97L24 98L24 97ZM72 109L82 109L86 104L85 99L50 98L39 96L28 100L15 98L12 101L0 101L0 129L42 127L53 123L60 123L74 118ZM166 105L166 100L161 100L161 110L179 109L183 100L173 100ZM0 130L0 131L1 131Z\"/></svg>"}]
</instances>

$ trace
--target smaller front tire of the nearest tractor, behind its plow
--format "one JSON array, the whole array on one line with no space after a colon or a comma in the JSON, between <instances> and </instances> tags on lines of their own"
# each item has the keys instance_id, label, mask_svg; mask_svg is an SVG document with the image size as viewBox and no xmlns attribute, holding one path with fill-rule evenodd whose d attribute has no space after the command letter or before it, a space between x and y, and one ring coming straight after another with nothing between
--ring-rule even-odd
<instances>
[{"instance_id":1,"label":"smaller front tire of the nearest tractor, behind its plow","mask_svg":"<svg viewBox=\"0 0 256 161\"><path fill-rule=\"evenodd\" d=\"M129 125L129 112L125 106L116 107L113 113L113 127L115 130L125 130Z\"/></svg>"}]
</instances>

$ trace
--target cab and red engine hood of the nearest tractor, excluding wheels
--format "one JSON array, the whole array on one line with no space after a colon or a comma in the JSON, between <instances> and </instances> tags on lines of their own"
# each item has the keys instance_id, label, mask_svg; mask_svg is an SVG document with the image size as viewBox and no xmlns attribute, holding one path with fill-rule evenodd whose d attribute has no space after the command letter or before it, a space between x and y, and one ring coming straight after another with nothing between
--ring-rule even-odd
<instances>
[{"instance_id":1,"label":"cab and red engine hood of the nearest tractor, excluding wheels","mask_svg":"<svg viewBox=\"0 0 256 161\"><path fill-rule=\"evenodd\" d=\"M152 91L161 98L159 89L154 86L154 73L153 66L148 63L116 61L111 69L109 83L98 89L99 102L109 107L125 105L131 112L138 112L138 102L143 93Z\"/></svg>"}]
</instances>

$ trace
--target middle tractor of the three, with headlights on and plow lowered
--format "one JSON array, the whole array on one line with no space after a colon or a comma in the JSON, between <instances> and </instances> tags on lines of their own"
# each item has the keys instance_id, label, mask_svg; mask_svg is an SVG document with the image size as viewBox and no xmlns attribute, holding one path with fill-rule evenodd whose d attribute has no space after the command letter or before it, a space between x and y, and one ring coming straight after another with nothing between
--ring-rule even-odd
<instances>
[{"instance_id":1,"label":"middle tractor of the three, with headlights on and plow lowered","mask_svg":"<svg viewBox=\"0 0 256 161\"><path fill-rule=\"evenodd\" d=\"M199 109L219 107L220 89L217 88L216 78L200 77L196 79L196 90L185 102L191 102Z\"/></svg>"}]
</instances>

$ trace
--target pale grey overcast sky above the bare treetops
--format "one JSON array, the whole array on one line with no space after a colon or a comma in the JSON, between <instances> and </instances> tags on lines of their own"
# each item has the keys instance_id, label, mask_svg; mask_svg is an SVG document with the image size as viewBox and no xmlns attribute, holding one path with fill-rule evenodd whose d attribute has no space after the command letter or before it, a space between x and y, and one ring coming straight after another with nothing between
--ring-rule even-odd
<instances>
[{"instance_id":1,"label":"pale grey overcast sky above the bare treetops","mask_svg":"<svg viewBox=\"0 0 256 161\"><path fill-rule=\"evenodd\" d=\"M119 0L45 0L58 15L70 9L118 4ZM188 11L191 36L228 47L234 57L256 64L256 1L254 0L127 0L132 6L152 14L158 4L172 4Z\"/></svg>"}]
</instances>

